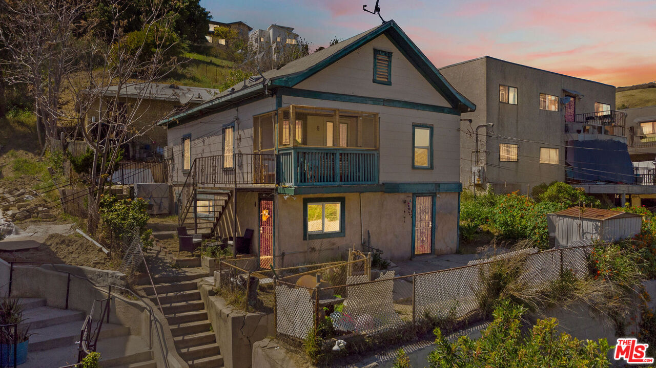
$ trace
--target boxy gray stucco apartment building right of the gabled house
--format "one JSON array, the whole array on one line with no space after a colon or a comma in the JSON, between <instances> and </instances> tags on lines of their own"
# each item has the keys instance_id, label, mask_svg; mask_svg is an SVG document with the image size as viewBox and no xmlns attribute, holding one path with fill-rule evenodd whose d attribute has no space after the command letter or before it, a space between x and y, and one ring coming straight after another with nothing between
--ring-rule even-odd
<instances>
[{"instance_id":1,"label":"boxy gray stucco apartment building right of the gabled house","mask_svg":"<svg viewBox=\"0 0 656 368\"><path fill-rule=\"evenodd\" d=\"M565 181L611 200L642 190L633 185L614 86L489 56L440 72L477 106L461 120L466 189L530 194L541 183ZM484 124L476 147L476 127Z\"/></svg>"}]
</instances>

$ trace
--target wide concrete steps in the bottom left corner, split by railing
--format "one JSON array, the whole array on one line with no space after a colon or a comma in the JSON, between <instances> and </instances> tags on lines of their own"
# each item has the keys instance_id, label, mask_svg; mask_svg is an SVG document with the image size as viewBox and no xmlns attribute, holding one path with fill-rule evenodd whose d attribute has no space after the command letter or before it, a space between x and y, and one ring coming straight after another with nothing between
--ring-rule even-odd
<instances>
[{"instance_id":1,"label":"wide concrete steps in the bottom left corner, split by railing","mask_svg":"<svg viewBox=\"0 0 656 368\"><path fill-rule=\"evenodd\" d=\"M28 360L21 368L61 367L77 362L77 344L85 313L46 305L45 299L20 299L30 325ZM96 350L104 368L156 368L148 342L130 335L130 327L103 323Z\"/></svg>"}]
</instances>

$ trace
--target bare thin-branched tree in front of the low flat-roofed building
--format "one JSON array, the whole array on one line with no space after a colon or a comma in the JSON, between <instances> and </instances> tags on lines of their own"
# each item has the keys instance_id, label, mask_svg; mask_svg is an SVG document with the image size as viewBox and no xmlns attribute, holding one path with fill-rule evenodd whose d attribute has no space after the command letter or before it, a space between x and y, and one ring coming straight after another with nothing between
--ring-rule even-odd
<instances>
[{"instance_id":1,"label":"bare thin-branched tree in front of the low flat-roofed building","mask_svg":"<svg viewBox=\"0 0 656 368\"><path fill-rule=\"evenodd\" d=\"M156 94L155 81L179 67L180 39L171 31L176 19L174 3L142 1L139 31L125 33L122 0L109 2L110 27L90 27L79 39L79 71L66 75L67 90L75 103L64 111L77 122L93 153L89 168L89 213L98 213L100 197L111 179L121 147L143 136L154 124L138 124ZM126 98L127 91L132 91ZM173 111L159 111L159 119ZM154 123L154 122L153 122ZM89 216L89 230L96 229Z\"/></svg>"}]
</instances>

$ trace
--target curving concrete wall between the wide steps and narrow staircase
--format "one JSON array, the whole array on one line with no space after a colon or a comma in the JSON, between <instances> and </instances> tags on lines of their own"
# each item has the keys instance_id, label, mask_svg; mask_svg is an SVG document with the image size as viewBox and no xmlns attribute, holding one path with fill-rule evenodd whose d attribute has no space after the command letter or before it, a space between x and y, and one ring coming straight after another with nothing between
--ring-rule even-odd
<instances>
[{"instance_id":1,"label":"curving concrete wall between the wide steps and narrow staircase","mask_svg":"<svg viewBox=\"0 0 656 368\"><path fill-rule=\"evenodd\" d=\"M57 265L57 269L62 266ZM50 269L49 269L50 268ZM112 280L117 272L98 270L90 267L66 266L71 274L94 274L98 280ZM14 298L43 298L48 306L66 308L66 289L68 274L52 270L52 266L16 266L11 288L11 297ZM104 282L102 283L105 284ZM112 303L110 303L110 323L130 327L132 335L139 335L146 344L152 333L152 349L157 367L188 368L176 353L173 336L168 329L166 319L157 310L154 311L154 320L151 324L150 313L144 304L130 301L117 295L120 289L112 289ZM68 308L81 310L86 314L96 299L105 299L107 291L94 287L89 281L72 276L68 294Z\"/></svg>"}]
</instances>

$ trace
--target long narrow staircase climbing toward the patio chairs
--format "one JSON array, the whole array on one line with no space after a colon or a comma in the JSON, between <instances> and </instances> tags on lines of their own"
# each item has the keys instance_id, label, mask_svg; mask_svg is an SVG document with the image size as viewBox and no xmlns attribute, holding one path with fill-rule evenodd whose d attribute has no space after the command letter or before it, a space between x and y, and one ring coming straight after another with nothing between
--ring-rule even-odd
<instances>
[{"instance_id":1,"label":"long narrow staircase climbing toward the patio chairs","mask_svg":"<svg viewBox=\"0 0 656 368\"><path fill-rule=\"evenodd\" d=\"M182 265L181 268L172 268L168 264L157 267L158 260L160 264L162 260L166 263L161 248L157 246L148 251L148 259L155 287L149 280L148 284L142 282L145 284L142 290L155 306L159 298L180 358L190 368L223 367L223 357L197 289L198 280L210 274L199 267L185 268L185 263L176 263ZM193 262L188 264L195 265Z\"/></svg>"}]
</instances>

